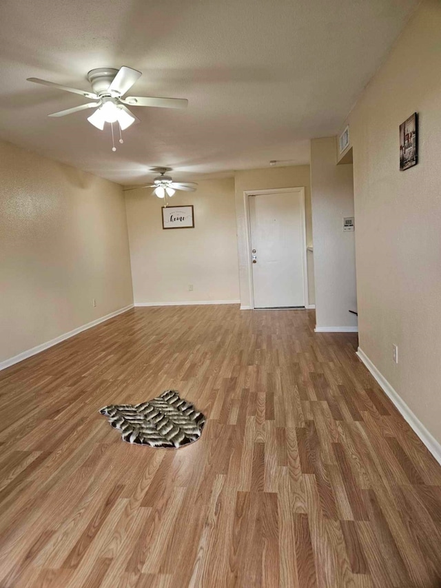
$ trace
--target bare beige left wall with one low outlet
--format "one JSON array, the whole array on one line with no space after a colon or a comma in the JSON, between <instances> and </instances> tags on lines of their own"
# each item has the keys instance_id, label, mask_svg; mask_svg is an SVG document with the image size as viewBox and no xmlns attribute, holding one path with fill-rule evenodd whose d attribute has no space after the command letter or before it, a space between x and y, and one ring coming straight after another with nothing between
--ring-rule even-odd
<instances>
[{"instance_id":1,"label":"bare beige left wall with one low outlet","mask_svg":"<svg viewBox=\"0 0 441 588\"><path fill-rule=\"evenodd\" d=\"M119 185L3 142L0 178L1 362L130 305L132 282Z\"/></svg>"}]
</instances>

